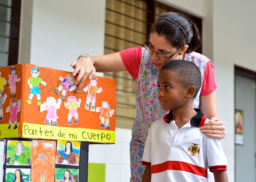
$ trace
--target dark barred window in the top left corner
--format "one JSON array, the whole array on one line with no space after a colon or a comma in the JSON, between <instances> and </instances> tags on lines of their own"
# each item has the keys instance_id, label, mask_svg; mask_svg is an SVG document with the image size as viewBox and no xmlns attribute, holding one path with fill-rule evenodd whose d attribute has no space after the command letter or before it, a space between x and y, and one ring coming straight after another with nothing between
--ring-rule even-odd
<instances>
[{"instance_id":1,"label":"dark barred window in the top left corner","mask_svg":"<svg viewBox=\"0 0 256 182\"><path fill-rule=\"evenodd\" d=\"M21 0L0 3L0 67L18 64Z\"/></svg>"}]
</instances>

